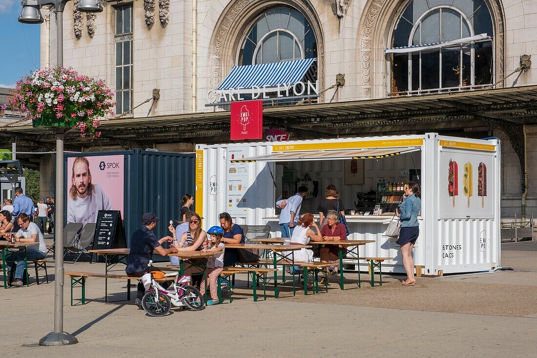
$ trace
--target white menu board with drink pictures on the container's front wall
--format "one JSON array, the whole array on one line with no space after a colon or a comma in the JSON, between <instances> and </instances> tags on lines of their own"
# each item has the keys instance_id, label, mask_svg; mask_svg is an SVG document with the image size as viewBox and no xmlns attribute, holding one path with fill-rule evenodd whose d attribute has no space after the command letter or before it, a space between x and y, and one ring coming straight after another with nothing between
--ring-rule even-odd
<instances>
[{"instance_id":1,"label":"white menu board with drink pictures on the container's front wall","mask_svg":"<svg viewBox=\"0 0 537 358\"><path fill-rule=\"evenodd\" d=\"M227 153L227 211L234 217L246 217L248 198L246 191L251 183L248 176L250 163L233 163L232 160L241 160L248 157L248 147L228 148Z\"/></svg>"}]
</instances>

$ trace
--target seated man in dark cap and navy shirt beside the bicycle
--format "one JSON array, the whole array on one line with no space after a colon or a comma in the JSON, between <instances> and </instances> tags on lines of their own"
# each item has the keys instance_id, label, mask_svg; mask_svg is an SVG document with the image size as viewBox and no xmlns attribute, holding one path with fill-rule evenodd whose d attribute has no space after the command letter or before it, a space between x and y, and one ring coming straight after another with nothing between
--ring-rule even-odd
<instances>
[{"instance_id":1,"label":"seated man in dark cap and navy shirt beside the bicycle","mask_svg":"<svg viewBox=\"0 0 537 358\"><path fill-rule=\"evenodd\" d=\"M172 238L165 236L160 240L151 231L155 230L158 218L152 212L147 212L142 216L142 227L137 228L130 237L130 253L127 256L127 268L125 272L127 276L141 277L148 269L147 265L153 250L162 256L177 252L177 249L171 246L168 249L162 247L163 242L171 242ZM36 225L37 226L37 225ZM150 267L149 271L160 271L156 267ZM141 282L138 283L138 293L134 304L142 309L142 298L146 290Z\"/></svg>"}]
</instances>

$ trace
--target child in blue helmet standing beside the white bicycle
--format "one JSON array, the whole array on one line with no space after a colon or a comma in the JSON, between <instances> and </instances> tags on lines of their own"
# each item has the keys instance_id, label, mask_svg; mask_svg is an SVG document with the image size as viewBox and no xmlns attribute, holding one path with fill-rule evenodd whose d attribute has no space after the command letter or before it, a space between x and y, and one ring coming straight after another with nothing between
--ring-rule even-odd
<instances>
[{"instance_id":1,"label":"child in blue helmet standing beside the white bicycle","mask_svg":"<svg viewBox=\"0 0 537 358\"><path fill-rule=\"evenodd\" d=\"M218 303L218 276L224 267L224 244L221 242L224 230L220 226L213 226L207 230L207 234L211 236L211 241L204 246L203 252L215 252L215 254L207 260L207 283L211 291L211 300L207 301L207 305L215 305ZM200 291L205 292L205 281L201 282Z\"/></svg>"}]
</instances>

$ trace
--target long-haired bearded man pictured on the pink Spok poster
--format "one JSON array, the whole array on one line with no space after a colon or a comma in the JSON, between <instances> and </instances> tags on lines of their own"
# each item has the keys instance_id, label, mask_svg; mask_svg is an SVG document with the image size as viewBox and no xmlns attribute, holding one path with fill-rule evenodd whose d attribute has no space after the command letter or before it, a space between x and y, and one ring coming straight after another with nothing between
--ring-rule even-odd
<instances>
[{"instance_id":1,"label":"long-haired bearded man pictured on the pink Spok poster","mask_svg":"<svg viewBox=\"0 0 537 358\"><path fill-rule=\"evenodd\" d=\"M86 157L75 158L71 182L67 201L68 223L96 223L99 210L112 210L103 189L91 182L90 163Z\"/></svg>"}]
</instances>

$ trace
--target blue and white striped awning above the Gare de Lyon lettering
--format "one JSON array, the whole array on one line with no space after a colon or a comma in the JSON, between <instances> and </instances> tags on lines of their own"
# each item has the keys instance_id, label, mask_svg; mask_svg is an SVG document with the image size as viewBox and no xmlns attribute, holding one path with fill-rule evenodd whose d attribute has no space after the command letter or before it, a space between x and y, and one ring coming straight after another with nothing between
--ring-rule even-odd
<instances>
[{"instance_id":1,"label":"blue and white striped awning above the Gare de Lyon lettering","mask_svg":"<svg viewBox=\"0 0 537 358\"><path fill-rule=\"evenodd\" d=\"M230 88L275 87L302 80L315 59L304 59L259 65L235 66L217 90Z\"/></svg>"}]
</instances>

